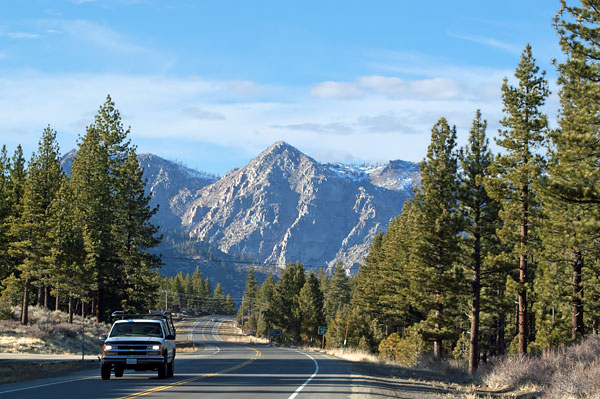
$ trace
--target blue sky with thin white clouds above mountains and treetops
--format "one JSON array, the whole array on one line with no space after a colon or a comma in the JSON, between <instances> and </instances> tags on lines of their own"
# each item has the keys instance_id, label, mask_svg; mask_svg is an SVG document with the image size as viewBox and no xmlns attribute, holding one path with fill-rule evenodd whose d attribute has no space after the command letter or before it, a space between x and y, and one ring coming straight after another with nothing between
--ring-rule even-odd
<instances>
[{"instance_id":1,"label":"blue sky with thin white clouds above mountains and treetops","mask_svg":"<svg viewBox=\"0 0 600 399\"><path fill-rule=\"evenodd\" d=\"M323 162L420 161L442 116L492 137L526 43L556 114L558 0L0 0L0 144L63 152L110 94L140 152L212 173L285 140Z\"/></svg>"}]
</instances>

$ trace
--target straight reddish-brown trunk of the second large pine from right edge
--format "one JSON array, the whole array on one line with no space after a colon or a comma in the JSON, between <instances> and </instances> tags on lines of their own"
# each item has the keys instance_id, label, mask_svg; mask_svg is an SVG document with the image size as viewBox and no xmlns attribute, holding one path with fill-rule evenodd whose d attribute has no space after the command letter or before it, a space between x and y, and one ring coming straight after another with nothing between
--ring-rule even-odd
<instances>
[{"instance_id":1,"label":"straight reddish-brown trunk of the second large pine from right edge","mask_svg":"<svg viewBox=\"0 0 600 399\"><path fill-rule=\"evenodd\" d=\"M524 185L523 192L523 208L521 214L521 250L525 250L527 246L527 222L529 220L528 209L528 194L529 187ZM519 355L527 354L527 254L521 253L519 257Z\"/></svg>"}]
</instances>

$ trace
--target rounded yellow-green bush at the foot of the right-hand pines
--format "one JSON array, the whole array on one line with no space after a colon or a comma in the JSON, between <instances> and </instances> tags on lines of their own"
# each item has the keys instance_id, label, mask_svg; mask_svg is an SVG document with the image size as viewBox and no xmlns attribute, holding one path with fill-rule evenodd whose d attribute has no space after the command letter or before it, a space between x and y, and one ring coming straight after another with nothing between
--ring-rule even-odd
<instances>
[{"instance_id":1,"label":"rounded yellow-green bush at the foot of the right-hand pines","mask_svg":"<svg viewBox=\"0 0 600 399\"><path fill-rule=\"evenodd\" d=\"M393 333L379 344L379 357L382 360L404 367L416 366L424 352L425 341L418 326L407 328L403 337Z\"/></svg>"}]
</instances>

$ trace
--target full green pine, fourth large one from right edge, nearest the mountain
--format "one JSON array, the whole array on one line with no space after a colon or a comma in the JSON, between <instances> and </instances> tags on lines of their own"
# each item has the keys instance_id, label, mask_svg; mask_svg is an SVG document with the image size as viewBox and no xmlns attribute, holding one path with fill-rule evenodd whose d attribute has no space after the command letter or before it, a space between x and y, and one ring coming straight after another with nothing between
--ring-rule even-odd
<instances>
[{"instance_id":1,"label":"full green pine, fourth large one from right edge, nearest the mountain","mask_svg":"<svg viewBox=\"0 0 600 399\"><path fill-rule=\"evenodd\" d=\"M462 220L457 211L456 128L441 118L431 132L427 157L421 162L421 191L414 199L415 236L409 273L412 303L426 315L424 336L442 357L445 339L458 336L462 313L463 271L459 260Z\"/></svg>"}]
</instances>

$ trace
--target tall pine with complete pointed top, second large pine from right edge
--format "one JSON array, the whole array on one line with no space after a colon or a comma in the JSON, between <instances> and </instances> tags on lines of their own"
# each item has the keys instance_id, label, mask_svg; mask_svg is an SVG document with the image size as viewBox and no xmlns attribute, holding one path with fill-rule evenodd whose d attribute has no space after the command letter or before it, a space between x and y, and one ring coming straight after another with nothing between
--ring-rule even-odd
<instances>
[{"instance_id":1,"label":"tall pine with complete pointed top, second large pine from right edge","mask_svg":"<svg viewBox=\"0 0 600 399\"><path fill-rule=\"evenodd\" d=\"M547 118L541 112L549 94L548 83L535 64L531 46L522 53L515 77L518 86L504 79L502 101L506 116L496 143L504 149L491 169L488 192L501 203L503 222L499 236L510 246L509 254L518 263L518 326L520 354L527 353L529 340L527 293L531 290L531 259L539 247L540 200L537 194L544 160L539 150L547 133Z\"/></svg>"}]
</instances>

